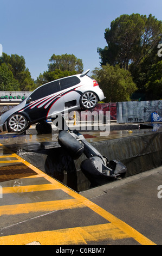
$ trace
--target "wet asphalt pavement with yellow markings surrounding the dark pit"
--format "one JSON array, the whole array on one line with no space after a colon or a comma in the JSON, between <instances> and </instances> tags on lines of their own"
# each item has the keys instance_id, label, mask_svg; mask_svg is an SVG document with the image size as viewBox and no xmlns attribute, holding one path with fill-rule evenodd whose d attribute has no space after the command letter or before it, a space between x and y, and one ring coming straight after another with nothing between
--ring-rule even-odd
<instances>
[{"instance_id":1,"label":"wet asphalt pavement with yellow markings surrounding the dark pit","mask_svg":"<svg viewBox=\"0 0 162 256\"><path fill-rule=\"evenodd\" d=\"M82 132L89 142L146 133ZM15 153L58 147L57 136L1 137L0 245L161 245L162 167L77 193Z\"/></svg>"}]
</instances>

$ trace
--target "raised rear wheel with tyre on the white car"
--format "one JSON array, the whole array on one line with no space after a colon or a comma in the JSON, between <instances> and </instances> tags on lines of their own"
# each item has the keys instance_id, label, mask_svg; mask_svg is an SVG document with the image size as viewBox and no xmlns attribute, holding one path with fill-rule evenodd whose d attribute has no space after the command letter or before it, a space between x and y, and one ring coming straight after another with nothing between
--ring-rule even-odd
<instances>
[{"instance_id":1,"label":"raised rear wheel with tyre on the white car","mask_svg":"<svg viewBox=\"0 0 162 256\"><path fill-rule=\"evenodd\" d=\"M84 109L92 109L96 106L99 99L94 92L87 91L80 97L80 106Z\"/></svg>"}]
</instances>

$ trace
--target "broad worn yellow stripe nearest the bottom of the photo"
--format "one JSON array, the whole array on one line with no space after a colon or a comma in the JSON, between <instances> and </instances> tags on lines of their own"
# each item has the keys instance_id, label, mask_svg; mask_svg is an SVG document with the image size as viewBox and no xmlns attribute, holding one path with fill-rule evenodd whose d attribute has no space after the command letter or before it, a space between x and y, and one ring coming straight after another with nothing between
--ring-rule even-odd
<instances>
[{"instance_id":1,"label":"broad worn yellow stripe nearest the bottom of the photo","mask_svg":"<svg viewBox=\"0 0 162 256\"><path fill-rule=\"evenodd\" d=\"M0 237L1 245L26 245L38 241L41 245L86 245L90 241L126 239L129 236L112 223L41 231Z\"/></svg>"}]
</instances>

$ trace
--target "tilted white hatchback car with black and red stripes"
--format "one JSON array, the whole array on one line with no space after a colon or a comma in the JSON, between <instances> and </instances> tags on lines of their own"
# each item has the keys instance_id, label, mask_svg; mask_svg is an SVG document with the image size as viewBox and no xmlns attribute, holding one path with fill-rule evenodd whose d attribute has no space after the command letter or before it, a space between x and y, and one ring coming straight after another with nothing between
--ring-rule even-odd
<instances>
[{"instance_id":1,"label":"tilted white hatchback car with black and red stripes","mask_svg":"<svg viewBox=\"0 0 162 256\"><path fill-rule=\"evenodd\" d=\"M31 124L65 111L92 109L105 99L98 82L87 73L64 77L38 87L20 104L0 117L0 134L22 132Z\"/></svg>"}]
</instances>

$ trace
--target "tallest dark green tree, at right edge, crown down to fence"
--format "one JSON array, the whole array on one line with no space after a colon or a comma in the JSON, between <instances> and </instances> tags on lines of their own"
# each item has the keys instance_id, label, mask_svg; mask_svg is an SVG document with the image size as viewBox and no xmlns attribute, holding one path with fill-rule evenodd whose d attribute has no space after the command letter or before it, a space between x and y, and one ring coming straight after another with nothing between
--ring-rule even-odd
<instances>
[{"instance_id":1,"label":"tallest dark green tree, at right edge, crown down to fence","mask_svg":"<svg viewBox=\"0 0 162 256\"><path fill-rule=\"evenodd\" d=\"M101 66L119 65L129 70L138 92L150 99L154 90L152 72L159 62L157 47L162 40L162 22L151 14L148 17L124 14L111 22L111 28L105 29L105 39L107 46L98 48ZM159 99L157 93L154 93L154 99Z\"/></svg>"}]
</instances>

